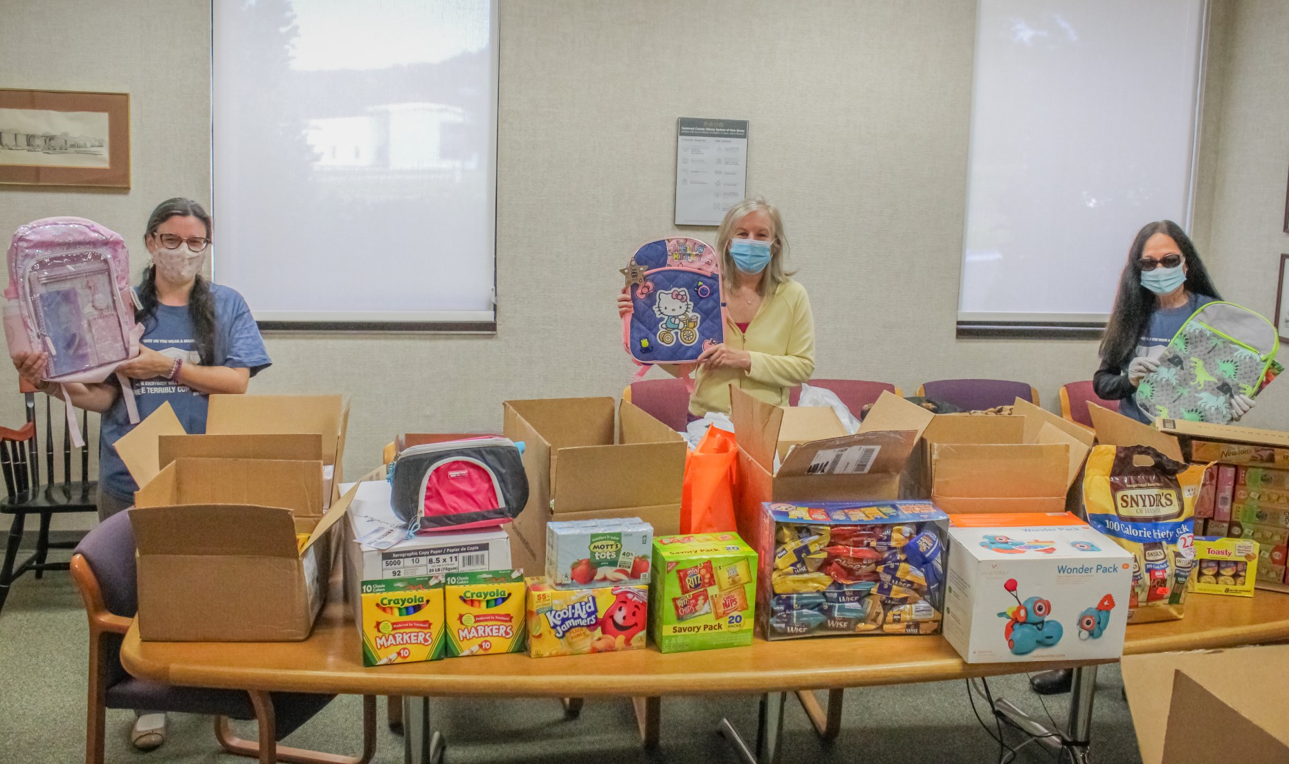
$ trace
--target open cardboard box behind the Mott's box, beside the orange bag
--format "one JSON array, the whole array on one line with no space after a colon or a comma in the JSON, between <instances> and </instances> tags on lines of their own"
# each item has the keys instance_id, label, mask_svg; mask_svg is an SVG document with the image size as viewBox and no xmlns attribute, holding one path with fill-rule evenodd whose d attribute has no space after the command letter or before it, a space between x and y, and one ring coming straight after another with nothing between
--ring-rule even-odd
<instances>
[{"instance_id":1,"label":"open cardboard box behind the Mott's box, beside the orange bag","mask_svg":"<svg viewBox=\"0 0 1289 764\"><path fill-rule=\"evenodd\" d=\"M679 531L684 438L612 398L507 401L505 437L525 443L528 502L508 526L514 567L545 569L547 523L638 517Z\"/></svg>"}]
</instances>

